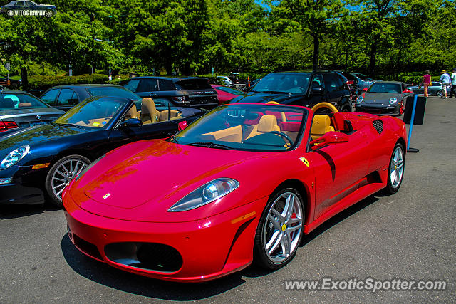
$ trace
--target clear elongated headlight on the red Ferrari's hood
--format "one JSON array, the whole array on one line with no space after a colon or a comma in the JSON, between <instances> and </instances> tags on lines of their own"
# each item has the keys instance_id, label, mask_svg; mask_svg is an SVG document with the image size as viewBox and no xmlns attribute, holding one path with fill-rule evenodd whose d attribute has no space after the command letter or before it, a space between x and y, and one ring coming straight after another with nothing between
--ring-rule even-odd
<instances>
[{"instance_id":1,"label":"clear elongated headlight on the red Ferrari's hood","mask_svg":"<svg viewBox=\"0 0 456 304\"><path fill-rule=\"evenodd\" d=\"M239 187L239 182L236 179L214 179L184 196L168 211L179 212L199 208L229 194L237 187Z\"/></svg>"}]
</instances>

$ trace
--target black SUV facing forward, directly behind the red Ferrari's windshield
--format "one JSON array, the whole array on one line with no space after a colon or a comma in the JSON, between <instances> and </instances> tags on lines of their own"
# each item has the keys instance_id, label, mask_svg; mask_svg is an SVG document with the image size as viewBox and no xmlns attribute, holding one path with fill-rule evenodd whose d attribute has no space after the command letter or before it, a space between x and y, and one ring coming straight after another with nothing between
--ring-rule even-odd
<instances>
[{"instance_id":1,"label":"black SUV facing forward, directly behind the red Ferrari's windshield","mask_svg":"<svg viewBox=\"0 0 456 304\"><path fill-rule=\"evenodd\" d=\"M249 94L233 98L230 103L277 103L312 107L326 101L340 111L351 111L351 92L338 73L280 72L264 76Z\"/></svg>"}]
</instances>

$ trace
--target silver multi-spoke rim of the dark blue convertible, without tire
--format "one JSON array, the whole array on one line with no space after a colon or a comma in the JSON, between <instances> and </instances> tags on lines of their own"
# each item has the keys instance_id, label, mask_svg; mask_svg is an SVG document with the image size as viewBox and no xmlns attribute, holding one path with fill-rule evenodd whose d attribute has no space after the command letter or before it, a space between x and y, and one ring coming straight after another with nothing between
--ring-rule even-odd
<instances>
[{"instance_id":1,"label":"silver multi-spoke rim of the dark blue convertible, without tire","mask_svg":"<svg viewBox=\"0 0 456 304\"><path fill-rule=\"evenodd\" d=\"M62 201L62 192L66 185L68 185L71 179L81 173L87 166L88 163L82 159L70 158L66 159L54 169L51 175L51 189L58 201Z\"/></svg>"}]
</instances>

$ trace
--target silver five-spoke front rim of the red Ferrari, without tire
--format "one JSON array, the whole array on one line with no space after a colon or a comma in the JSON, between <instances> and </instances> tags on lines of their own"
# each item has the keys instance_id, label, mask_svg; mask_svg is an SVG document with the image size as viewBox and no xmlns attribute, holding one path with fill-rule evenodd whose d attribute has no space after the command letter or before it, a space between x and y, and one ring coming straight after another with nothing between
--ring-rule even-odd
<instances>
[{"instance_id":1,"label":"silver five-spoke front rim of the red Ferrari, without tire","mask_svg":"<svg viewBox=\"0 0 456 304\"><path fill-rule=\"evenodd\" d=\"M302 204L293 192L284 192L271 204L264 221L264 251L273 263L284 263L296 251L303 225Z\"/></svg>"}]
</instances>

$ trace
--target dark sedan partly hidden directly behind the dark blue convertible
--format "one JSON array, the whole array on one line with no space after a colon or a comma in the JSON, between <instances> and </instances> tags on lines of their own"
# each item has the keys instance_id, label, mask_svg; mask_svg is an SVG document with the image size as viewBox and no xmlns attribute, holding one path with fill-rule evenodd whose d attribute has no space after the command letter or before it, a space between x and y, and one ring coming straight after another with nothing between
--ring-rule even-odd
<instances>
[{"instance_id":1,"label":"dark sedan partly hidden directly behind the dark blue convertible","mask_svg":"<svg viewBox=\"0 0 456 304\"><path fill-rule=\"evenodd\" d=\"M48 105L68 111L86 98L93 96L113 96L130 98L140 105L140 96L120 85L58 85L41 95Z\"/></svg>"}]
</instances>

